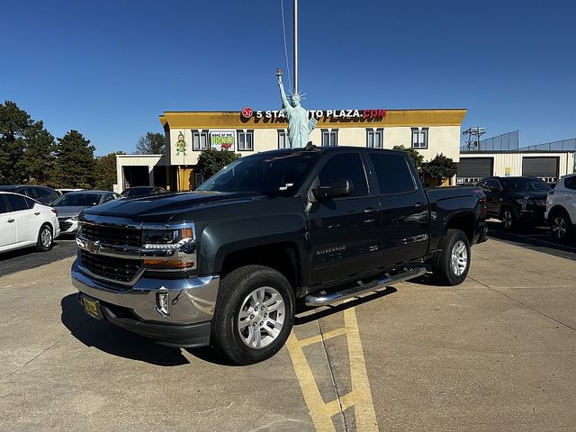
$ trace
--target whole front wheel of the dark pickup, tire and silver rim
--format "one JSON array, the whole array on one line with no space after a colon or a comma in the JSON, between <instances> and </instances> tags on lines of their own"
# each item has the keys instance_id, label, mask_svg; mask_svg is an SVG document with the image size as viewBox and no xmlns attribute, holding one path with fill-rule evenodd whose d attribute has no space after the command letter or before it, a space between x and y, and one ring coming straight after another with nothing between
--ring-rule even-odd
<instances>
[{"instance_id":1,"label":"whole front wheel of the dark pickup, tire and silver rim","mask_svg":"<svg viewBox=\"0 0 576 432\"><path fill-rule=\"evenodd\" d=\"M238 365L274 356L294 321L294 293L284 275L266 266L243 266L220 284L212 320L212 342Z\"/></svg>"}]
</instances>

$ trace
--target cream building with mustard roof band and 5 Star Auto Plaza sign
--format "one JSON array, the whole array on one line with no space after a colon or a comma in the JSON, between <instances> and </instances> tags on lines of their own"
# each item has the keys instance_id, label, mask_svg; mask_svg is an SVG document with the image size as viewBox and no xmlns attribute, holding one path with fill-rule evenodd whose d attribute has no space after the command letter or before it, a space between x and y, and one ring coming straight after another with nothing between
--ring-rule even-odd
<instances>
[{"instance_id":1,"label":"cream building with mustard roof band and 5 Star Auto Plaza sign","mask_svg":"<svg viewBox=\"0 0 576 432\"><path fill-rule=\"evenodd\" d=\"M456 162L466 110L309 110L318 120L311 132L317 146L417 148L425 159L442 153ZM171 191L192 190L202 184L196 164L202 150L216 148L241 156L289 148L287 121L282 111L164 112L165 155L117 156L116 191L157 185ZM454 179L453 179L454 181Z\"/></svg>"}]
</instances>

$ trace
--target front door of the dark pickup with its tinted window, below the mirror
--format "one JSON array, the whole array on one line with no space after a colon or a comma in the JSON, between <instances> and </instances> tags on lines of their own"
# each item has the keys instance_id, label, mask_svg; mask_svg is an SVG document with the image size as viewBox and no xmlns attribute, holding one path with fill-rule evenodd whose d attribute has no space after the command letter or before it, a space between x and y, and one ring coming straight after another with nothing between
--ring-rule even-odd
<instances>
[{"instance_id":1,"label":"front door of the dark pickup with its tinted window, below the mirror","mask_svg":"<svg viewBox=\"0 0 576 432\"><path fill-rule=\"evenodd\" d=\"M320 169L316 184L351 180L351 195L312 202L308 211L312 245L312 284L357 275L381 266L381 212L370 193L359 153L338 153Z\"/></svg>"}]
</instances>

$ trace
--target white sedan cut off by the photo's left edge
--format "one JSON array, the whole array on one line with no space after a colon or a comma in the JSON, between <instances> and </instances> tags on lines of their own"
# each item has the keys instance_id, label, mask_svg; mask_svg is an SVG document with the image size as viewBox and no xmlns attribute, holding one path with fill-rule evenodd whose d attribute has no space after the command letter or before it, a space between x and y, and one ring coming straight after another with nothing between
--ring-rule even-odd
<instances>
[{"instance_id":1,"label":"white sedan cut off by the photo's left edge","mask_svg":"<svg viewBox=\"0 0 576 432\"><path fill-rule=\"evenodd\" d=\"M0 191L0 252L46 251L60 233L58 211L18 193Z\"/></svg>"}]
</instances>

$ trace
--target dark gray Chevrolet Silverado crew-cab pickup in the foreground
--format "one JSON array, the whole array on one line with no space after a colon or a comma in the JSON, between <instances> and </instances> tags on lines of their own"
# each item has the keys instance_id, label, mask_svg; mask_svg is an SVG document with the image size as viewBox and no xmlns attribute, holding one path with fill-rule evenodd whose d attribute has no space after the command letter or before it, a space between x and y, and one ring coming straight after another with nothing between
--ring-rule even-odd
<instances>
[{"instance_id":1,"label":"dark gray Chevrolet Silverado crew-cab pickup in the foreground","mask_svg":"<svg viewBox=\"0 0 576 432\"><path fill-rule=\"evenodd\" d=\"M96 319L246 365L283 347L296 302L340 302L428 270L462 283L485 211L480 188L425 190L402 152L258 153L193 193L85 210L72 282Z\"/></svg>"}]
</instances>

